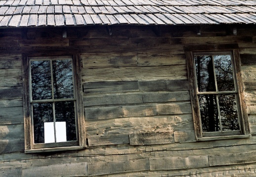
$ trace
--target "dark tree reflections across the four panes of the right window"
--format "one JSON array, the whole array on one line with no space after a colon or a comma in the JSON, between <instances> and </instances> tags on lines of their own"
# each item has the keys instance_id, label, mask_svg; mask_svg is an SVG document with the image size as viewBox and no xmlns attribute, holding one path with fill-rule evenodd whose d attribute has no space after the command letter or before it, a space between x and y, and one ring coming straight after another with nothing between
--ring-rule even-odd
<instances>
[{"instance_id":1,"label":"dark tree reflections across the four panes of the right window","mask_svg":"<svg viewBox=\"0 0 256 177\"><path fill-rule=\"evenodd\" d=\"M203 132L239 130L236 96L230 94L235 91L231 56L195 56L194 60Z\"/></svg>"}]
</instances>

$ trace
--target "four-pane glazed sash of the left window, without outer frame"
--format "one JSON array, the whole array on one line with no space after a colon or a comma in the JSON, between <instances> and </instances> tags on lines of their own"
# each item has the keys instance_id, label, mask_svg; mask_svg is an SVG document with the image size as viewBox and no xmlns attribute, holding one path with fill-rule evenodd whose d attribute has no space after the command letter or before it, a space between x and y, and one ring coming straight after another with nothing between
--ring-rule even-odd
<instances>
[{"instance_id":1,"label":"four-pane glazed sash of the left window, without outer frame","mask_svg":"<svg viewBox=\"0 0 256 177\"><path fill-rule=\"evenodd\" d=\"M77 145L72 58L30 58L30 76L34 148Z\"/></svg>"}]
</instances>

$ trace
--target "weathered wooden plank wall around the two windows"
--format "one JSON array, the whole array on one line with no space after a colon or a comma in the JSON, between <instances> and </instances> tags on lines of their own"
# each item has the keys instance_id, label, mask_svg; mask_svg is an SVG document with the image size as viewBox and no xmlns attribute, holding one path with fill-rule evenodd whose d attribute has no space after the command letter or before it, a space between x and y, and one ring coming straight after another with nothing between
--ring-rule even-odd
<instances>
[{"instance_id":1,"label":"weathered wooden plank wall around the two windows","mask_svg":"<svg viewBox=\"0 0 256 177\"><path fill-rule=\"evenodd\" d=\"M112 35L106 27L0 29L0 174L255 175L255 27L238 26L237 35L231 26L204 26L200 35L198 29L119 26ZM240 48L253 136L196 142L183 48L232 43ZM28 51L80 54L87 149L24 153L21 57Z\"/></svg>"}]
</instances>

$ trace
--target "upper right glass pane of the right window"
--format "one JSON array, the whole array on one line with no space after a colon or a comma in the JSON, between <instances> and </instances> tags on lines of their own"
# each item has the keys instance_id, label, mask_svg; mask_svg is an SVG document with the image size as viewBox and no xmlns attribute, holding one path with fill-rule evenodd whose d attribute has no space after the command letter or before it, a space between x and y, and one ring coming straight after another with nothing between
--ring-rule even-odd
<instances>
[{"instance_id":1,"label":"upper right glass pane of the right window","mask_svg":"<svg viewBox=\"0 0 256 177\"><path fill-rule=\"evenodd\" d=\"M231 56L214 56L214 64L218 91L235 90Z\"/></svg>"}]
</instances>

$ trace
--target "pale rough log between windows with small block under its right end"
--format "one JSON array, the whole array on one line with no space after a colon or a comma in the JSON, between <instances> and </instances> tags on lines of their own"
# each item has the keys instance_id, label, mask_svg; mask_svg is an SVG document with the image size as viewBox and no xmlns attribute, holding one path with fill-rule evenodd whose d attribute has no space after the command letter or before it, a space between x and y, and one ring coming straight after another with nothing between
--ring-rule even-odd
<instances>
[{"instance_id":1,"label":"pale rough log between windows with small block under its right end","mask_svg":"<svg viewBox=\"0 0 256 177\"><path fill-rule=\"evenodd\" d=\"M149 117L135 117L135 118L114 118L105 120L92 120L86 122L86 134L88 136L94 135L112 135L121 134L123 132L148 132L148 131L170 131L181 132L176 136L178 140L185 140L192 142L195 138L190 134L183 134L182 132L193 131L193 118L191 114L183 114L179 116L164 115L164 116L149 116ZM194 133L195 134L195 133ZM189 135L185 137L183 135ZM195 136L195 135L194 135Z\"/></svg>"}]
</instances>

